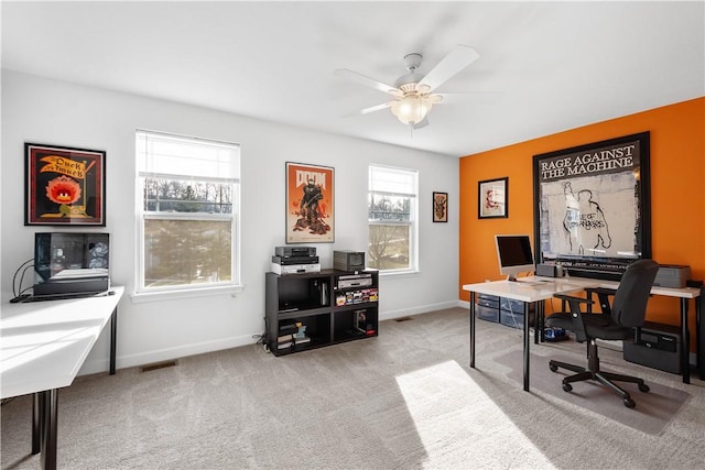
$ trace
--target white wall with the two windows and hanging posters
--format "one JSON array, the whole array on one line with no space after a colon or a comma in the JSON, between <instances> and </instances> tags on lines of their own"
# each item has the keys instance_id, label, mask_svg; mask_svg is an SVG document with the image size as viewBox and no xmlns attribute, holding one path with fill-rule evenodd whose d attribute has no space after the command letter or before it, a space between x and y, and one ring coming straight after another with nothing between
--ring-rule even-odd
<instances>
[{"instance_id":1,"label":"white wall with the two windows and hanging posters","mask_svg":"<svg viewBox=\"0 0 705 470\"><path fill-rule=\"evenodd\" d=\"M241 144L245 291L237 297L131 302L129 294L134 289L137 263L134 130L138 128ZM118 317L118 368L242 346L263 332L264 273L269 271L274 247L285 244L288 161L335 167L335 243L316 245L323 267L332 267L334 249L366 249L368 164L417 170L421 272L381 278L380 316L386 319L458 305L456 159L9 70L2 72L2 303L12 295L12 274L32 256L33 233L61 230L23 225L24 142L107 152L105 230L111 233L112 284L126 286ZM431 222L434 190L448 193L448 223ZM380 328L380 335L383 334ZM107 363L108 338L104 332L82 373L105 371Z\"/></svg>"}]
</instances>

